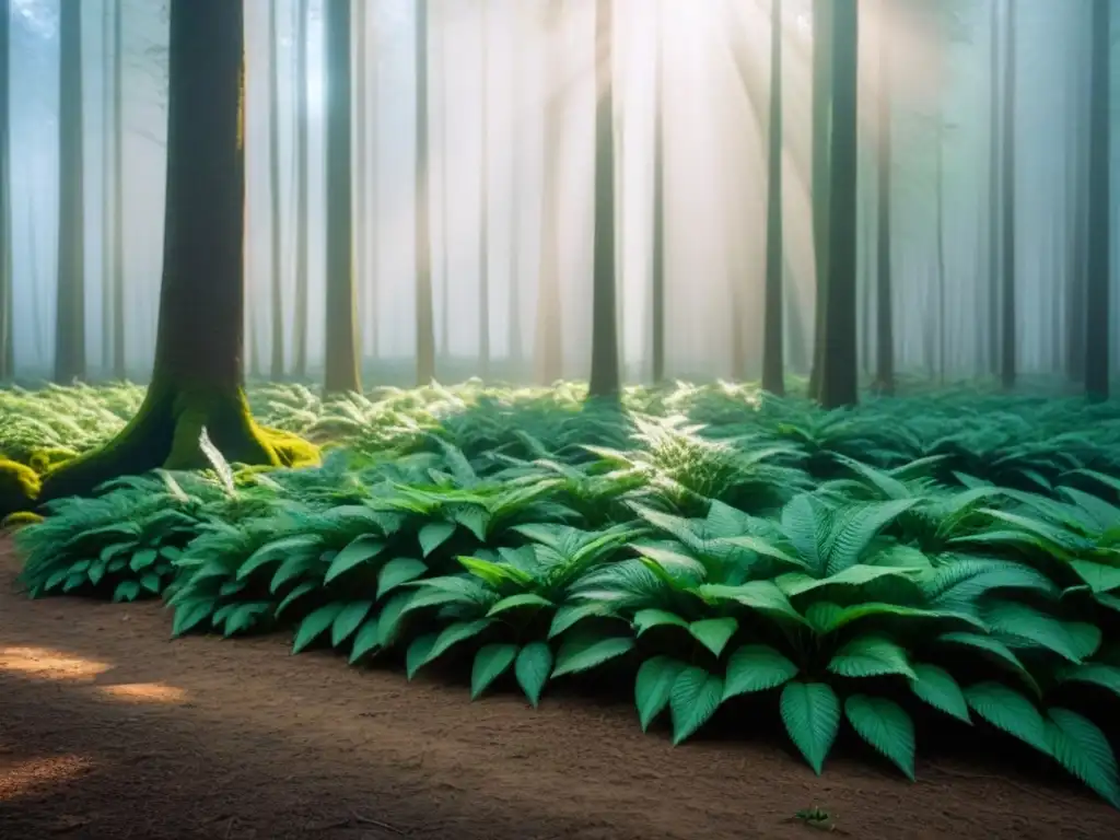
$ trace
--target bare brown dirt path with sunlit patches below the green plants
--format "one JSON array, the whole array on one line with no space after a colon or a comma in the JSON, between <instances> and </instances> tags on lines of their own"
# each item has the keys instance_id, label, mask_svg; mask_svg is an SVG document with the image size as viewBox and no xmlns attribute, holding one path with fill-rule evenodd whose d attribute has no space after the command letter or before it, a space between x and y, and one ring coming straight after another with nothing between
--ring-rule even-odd
<instances>
[{"instance_id":1,"label":"bare brown dirt path with sunlit patches below the green plants","mask_svg":"<svg viewBox=\"0 0 1120 840\"><path fill-rule=\"evenodd\" d=\"M743 840L1116 837L1120 816L1009 762L673 748L624 702L292 657L283 636L170 641L158 603L30 601L0 539L0 838ZM932 745L922 745L923 749ZM927 750L926 750L927 752Z\"/></svg>"}]
</instances>

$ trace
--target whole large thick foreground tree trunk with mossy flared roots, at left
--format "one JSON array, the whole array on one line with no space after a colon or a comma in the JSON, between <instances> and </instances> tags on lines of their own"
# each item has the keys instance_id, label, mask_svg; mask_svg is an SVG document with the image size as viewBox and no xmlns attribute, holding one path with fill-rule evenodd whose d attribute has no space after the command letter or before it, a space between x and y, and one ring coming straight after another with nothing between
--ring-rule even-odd
<instances>
[{"instance_id":1,"label":"whole large thick foreground tree trunk with mossy flared roots, at left","mask_svg":"<svg viewBox=\"0 0 1120 840\"><path fill-rule=\"evenodd\" d=\"M114 440L46 476L40 501L159 466L206 466L198 447L204 428L230 461L292 460L287 441L253 423L242 388L242 4L171 0L170 12L164 277L151 385Z\"/></svg>"}]
</instances>

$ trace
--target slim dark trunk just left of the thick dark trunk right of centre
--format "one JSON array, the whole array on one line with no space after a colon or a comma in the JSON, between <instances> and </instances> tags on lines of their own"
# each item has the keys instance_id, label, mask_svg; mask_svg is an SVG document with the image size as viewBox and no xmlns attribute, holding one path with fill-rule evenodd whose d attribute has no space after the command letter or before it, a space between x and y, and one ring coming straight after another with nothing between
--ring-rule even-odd
<instances>
[{"instance_id":1,"label":"slim dark trunk just left of the thick dark trunk right of centre","mask_svg":"<svg viewBox=\"0 0 1120 840\"><path fill-rule=\"evenodd\" d=\"M766 302L763 324L763 390L785 393L783 356L784 244L782 236L782 0L771 1L769 172L766 187Z\"/></svg>"}]
</instances>

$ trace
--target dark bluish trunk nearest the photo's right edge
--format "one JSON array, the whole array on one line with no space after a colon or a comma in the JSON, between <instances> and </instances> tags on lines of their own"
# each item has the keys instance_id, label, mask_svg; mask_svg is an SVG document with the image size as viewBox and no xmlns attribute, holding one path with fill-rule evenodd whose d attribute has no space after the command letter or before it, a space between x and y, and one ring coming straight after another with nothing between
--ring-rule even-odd
<instances>
[{"instance_id":1,"label":"dark bluish trunk nearest the photo's right edge","mask_svg":"<svg viewBox=\"0 0 1120 840\"><path fill-rule=\"evenodd\" d=\"M1094 400L1109 396L1112 343L1109 316L1112 171L1112 0L1093 0L1092 76L1089 125L1089 264L1085 290L1085 390Z\"/></svg>"}]
</instances>

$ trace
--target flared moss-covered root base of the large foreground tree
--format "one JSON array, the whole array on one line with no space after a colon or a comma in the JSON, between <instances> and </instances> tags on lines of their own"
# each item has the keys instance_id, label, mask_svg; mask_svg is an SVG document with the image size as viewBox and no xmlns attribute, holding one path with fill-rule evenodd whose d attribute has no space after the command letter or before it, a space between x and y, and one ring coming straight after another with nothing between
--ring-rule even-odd
<instances>
[{"instance_id":1,"label":"flared moss-covered root base of the large foreground tree","mask_svg":"<svg viewBox=\"0 0 1120 840\"><path fill-rule=\"evenodd\" d=\"M258 426L240 388L193 388L157 377L120 435L44 476L38 502L90 495L113 478L158 467L205 469L211 465L198 447L204 428L231 464L292 467L319 460L314 444Z\"/></svg>"}]
</instances>

